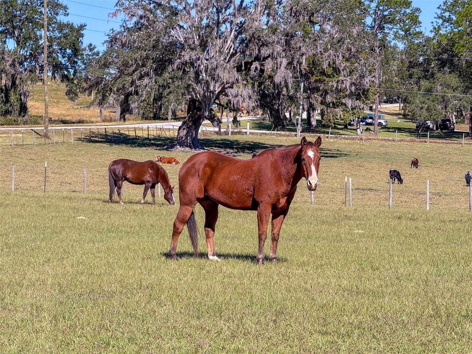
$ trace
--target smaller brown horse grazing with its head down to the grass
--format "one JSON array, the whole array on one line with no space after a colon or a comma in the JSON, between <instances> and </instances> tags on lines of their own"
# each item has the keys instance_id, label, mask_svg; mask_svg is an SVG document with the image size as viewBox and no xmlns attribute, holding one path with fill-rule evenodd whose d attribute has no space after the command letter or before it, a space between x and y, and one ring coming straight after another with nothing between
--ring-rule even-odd
<instances>
[{"instance_id":1,"label":"smaller brown horse grazing with its head down to the grass","mask_svg":"<svg viewBox=\"0 0 472 354\"><path fill-rule=\"evenodd\" d=\"M113 201L116 188L119 202L123 204L121 196L123 194L123 182L126 181L133 185L144 185L142 203L144 203L149 188L151 188L152 204L156 202L154 199L155 188L160 183L164 189L164 199L171 205L175 204L174 189L170 185L169 176L167 176L166 170L155 161L139 162L128 159L111 161L108 167L108 181L110 184L110 202Z\"/></svg>"}]
</instances>

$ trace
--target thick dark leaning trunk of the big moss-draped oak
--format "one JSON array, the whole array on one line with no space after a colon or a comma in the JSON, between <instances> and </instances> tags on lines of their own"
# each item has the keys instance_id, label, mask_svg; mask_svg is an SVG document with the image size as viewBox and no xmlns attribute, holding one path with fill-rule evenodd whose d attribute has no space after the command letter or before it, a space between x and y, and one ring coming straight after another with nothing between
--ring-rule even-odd
<instances>
[{"instance_id":1,"label":"thick dark leaning trunk of the big moss-draped oak","mask_svg":"<svg viewBox=\"0 0 472 354\"><path fill-rule=\"evenodd\" d=\"M203 146L198 142L202 121L202 107L198 101L191 99L187 105L187 115L177 130L176 144L189 149L202 149Z\"/></svg>"}]
</instances>

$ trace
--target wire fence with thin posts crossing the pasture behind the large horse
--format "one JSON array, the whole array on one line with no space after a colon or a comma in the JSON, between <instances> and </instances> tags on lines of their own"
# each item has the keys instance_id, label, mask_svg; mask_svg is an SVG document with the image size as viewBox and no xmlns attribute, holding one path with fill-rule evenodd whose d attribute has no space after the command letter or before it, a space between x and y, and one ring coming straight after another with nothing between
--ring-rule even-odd
<instances>
[{"instance_id":1,"label":"wire fence with thin posts crossing the pasture behind the large horse","mask_svg":"<svg viewBox=\"0 0 472 354\"><path fill-rule=\"evenodd\" d=\"M84 194L108 200L107 164L95 163L81 166L64 160L51 162L35 160L16 162L0 166L0 190L12 193L42 192ZM164 166L165 167L165 166ZM178 167L173 167L178 168ZM176 177L175 177L176 178ZM175 193L178 195L177 181ZM143 186L125 183L125 193L135 202L140 201ZM157 195L159 196L159 195ZM150 196L148 196L150 198ZM116 199L116 198L115 198ZM147 200L148 202L150 199ZM366 218L378 219L383 216L378 209L390 208L423 210L472 210L472 188L465 186L463 176L450 176L446 180L420 180L409 177L403 184L390 184L388 178L366 181L359 177L343 177L336 180L320 180L316 191L307 191L304 180L300 181L295 201L302 205L344 206L365 211Z\"/></svg>"}]
</instances>

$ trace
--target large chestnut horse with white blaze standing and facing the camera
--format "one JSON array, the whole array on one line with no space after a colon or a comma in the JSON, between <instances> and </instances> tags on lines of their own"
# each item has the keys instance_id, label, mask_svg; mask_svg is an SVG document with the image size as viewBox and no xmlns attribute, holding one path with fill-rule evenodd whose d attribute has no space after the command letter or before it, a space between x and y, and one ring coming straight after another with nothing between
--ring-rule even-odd
<instances>
[{"instance_id":1,"label":"large chestnut horse with white blaze standing and facing the camera","mask_svg":"<svg viewBox=\"0 0 472 354\"><path fill-rule=\"evenodd\" d=\"M321 138L265 150L250 160L240 160L219 152L198 152L188 158L179 171L180 207L174 221L169 256L177 259L178 236L187 224L190 241L198 257L197 226L194 207L205 210L205 236L208 258L219 261L213 236L219 204L230 209L257 211L259 249L257 261L264 262L264 242L272 213L269 259L276 261L277 242L282 222L295 195L296 185L306 178L308 189L316 190L320 167Z\"/></svg>"}]
</instances>

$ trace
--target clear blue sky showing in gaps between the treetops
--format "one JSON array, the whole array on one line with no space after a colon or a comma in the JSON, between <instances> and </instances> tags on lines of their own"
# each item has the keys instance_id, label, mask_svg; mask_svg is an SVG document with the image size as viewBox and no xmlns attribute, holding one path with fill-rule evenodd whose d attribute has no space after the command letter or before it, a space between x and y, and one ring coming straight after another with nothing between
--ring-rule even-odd
<instances>
[{"instance_id":1,"label":"clear blue sky showing in gaps between the treetops","mask_svg":"<svg viewBox=\"0 0 472 354\"><path fill-rule=\"evenodd\" d=\"M78 4L77 2L84 4ZM111 28L118 28L119 22L122 17L109 18L108 14L112 12L112 8L115 7L116 0L63 0L63 2L69 8L68 17L69 21L74 23L85 23L87 25L87 31L84 31L84 44L93 43L99 50L103 50L103 41L107 39L104 32L108 32ZM442 0L413 0L413 6L421 8L421 25L423 31L427 34L432 29L431 22L434 21L435 13L438 11L438 6L442 3ZM94 6L90 6L94 5ZM98 8L100 6L103 8ZM79 15L79 16L77 16ZM86 16L86 17L82 17ZM98 19L87 18L95 17ZM107 22L108 20L108 22ZM98 32L94 32L98 31Z\"/></svg>"}]
</instances>

